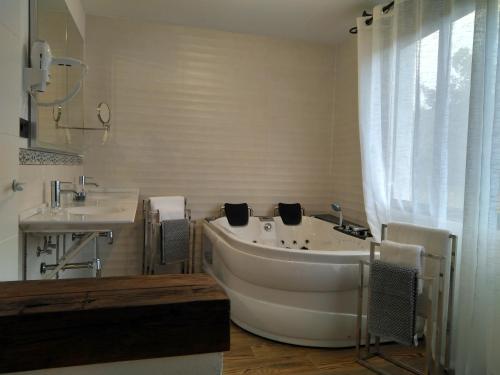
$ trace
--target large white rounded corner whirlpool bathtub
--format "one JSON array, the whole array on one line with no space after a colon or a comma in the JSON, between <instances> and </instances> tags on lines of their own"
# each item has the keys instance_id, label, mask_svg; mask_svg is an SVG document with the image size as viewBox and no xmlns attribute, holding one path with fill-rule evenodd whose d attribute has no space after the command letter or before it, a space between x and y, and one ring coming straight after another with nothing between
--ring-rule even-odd
<instances>
[{"instance_id":1,"label":"large white rounded corner whirlpool bathtub","mask_svg":"<svg viewBox=\"0 0 500 375\"><path fill-rule=\"evenodd\" d=\"M203 225L204 269L226 290L234 323L290 344L355 344L358 262L369 258L368 240L308 216L297 226L280 217Z\"/></svg>"}]
</instances>

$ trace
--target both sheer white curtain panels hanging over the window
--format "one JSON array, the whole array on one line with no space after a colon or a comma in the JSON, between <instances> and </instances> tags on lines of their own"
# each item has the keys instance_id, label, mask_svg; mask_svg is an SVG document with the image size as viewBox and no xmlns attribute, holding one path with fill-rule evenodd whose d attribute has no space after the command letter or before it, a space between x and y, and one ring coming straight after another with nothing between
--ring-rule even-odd
<instances>
[{"instance_id":1,"label":"both sheer white curtain panels hanging over the window","mask_svg":"<svg viewBox=\"0 0 500 375\"><path fill-rule=\"evenodd\" d=\"M396 0L357 26L370 229L459 236L456 373L500 374L499 0Z\"/></svg>"}]
</instances>

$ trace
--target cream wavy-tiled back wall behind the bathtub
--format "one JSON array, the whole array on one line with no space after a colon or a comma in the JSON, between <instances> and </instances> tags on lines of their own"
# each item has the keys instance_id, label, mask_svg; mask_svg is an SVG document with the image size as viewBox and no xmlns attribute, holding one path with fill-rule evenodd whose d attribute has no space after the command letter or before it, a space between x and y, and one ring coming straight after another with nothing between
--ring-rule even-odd
<instances>
[{"instance_id":1,"label":"cream wavy-tiled back wall behind the bathtub","mask_svg":"<svg viewBox=\"0 0 500 375\"><path fill-rule=\"evenodd\" d=\"M113 116L109 142L85 153L86 174L142 196L184 195L195 219L225 201L260 215L280 201L328 208L332 47L100 17L87 17L86 42L86 122L102 100ZM138 272L140 221L122 231L108 274Z\"/></svg>"}]
</instances>

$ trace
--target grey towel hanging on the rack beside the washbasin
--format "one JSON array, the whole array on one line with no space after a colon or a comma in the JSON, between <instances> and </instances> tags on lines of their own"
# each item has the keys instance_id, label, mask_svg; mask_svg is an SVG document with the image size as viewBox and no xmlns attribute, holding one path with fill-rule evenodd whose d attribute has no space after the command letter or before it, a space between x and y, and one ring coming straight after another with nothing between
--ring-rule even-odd
<instances>
[{"instance_id":1,"label":"grey towel hanging on the rack beside the washbasin","mask_svg":"<svg viewBox=\"0 0 500 375\"><path fill-rule=\"evenodd\" d=\"M161 222L161 264L178 263L189 258L189 220Z\"/></svg>"}]
</instances>

